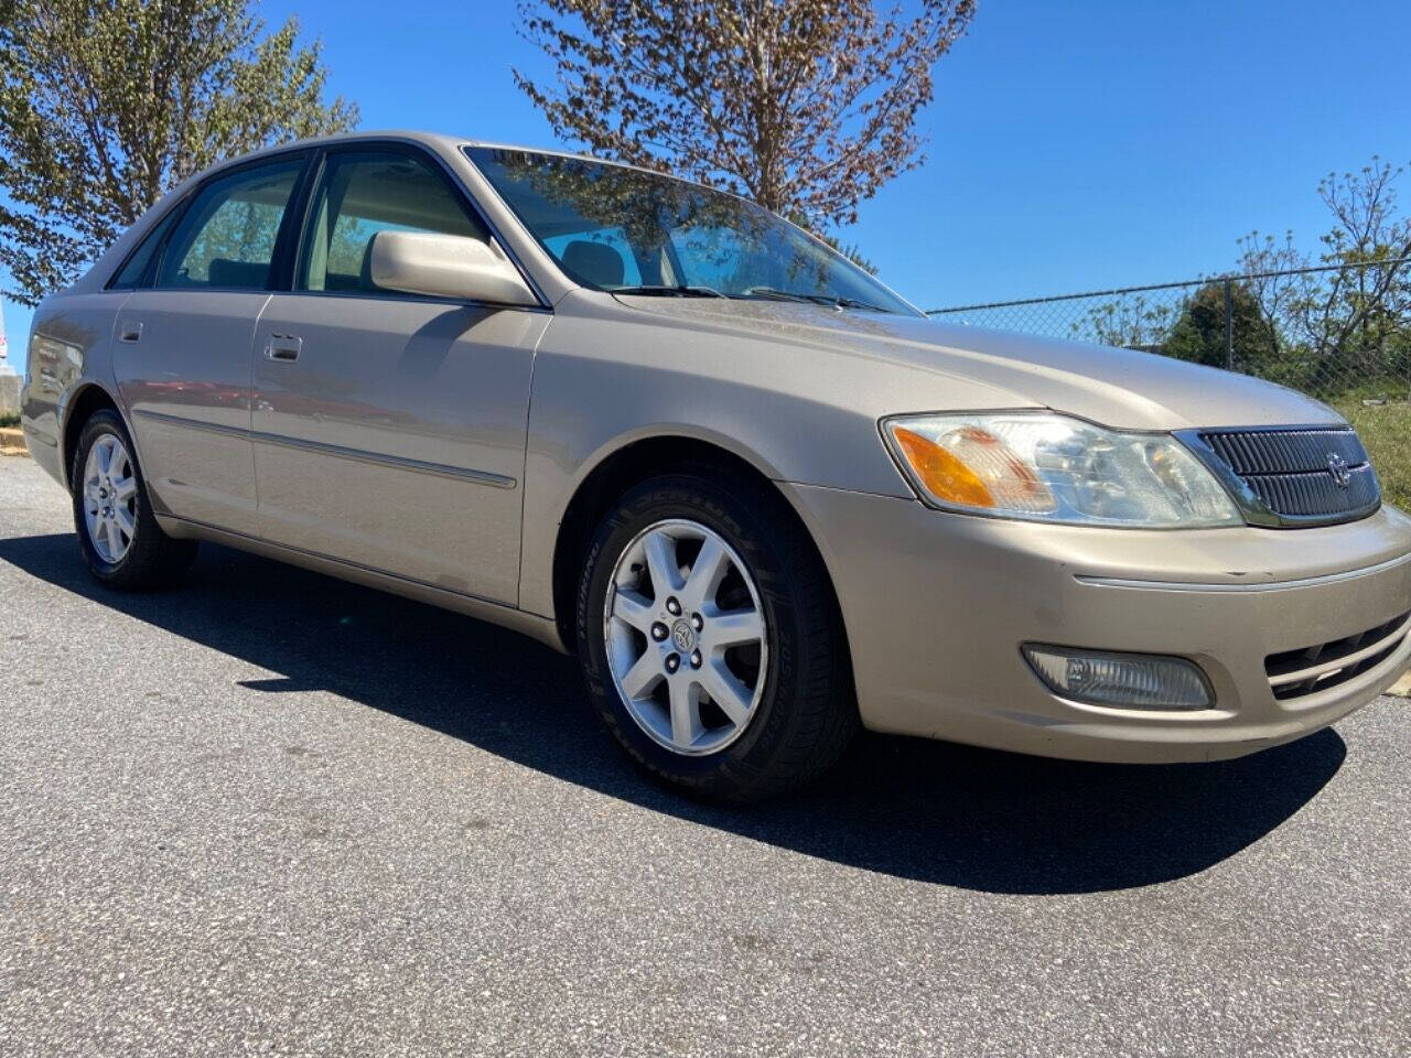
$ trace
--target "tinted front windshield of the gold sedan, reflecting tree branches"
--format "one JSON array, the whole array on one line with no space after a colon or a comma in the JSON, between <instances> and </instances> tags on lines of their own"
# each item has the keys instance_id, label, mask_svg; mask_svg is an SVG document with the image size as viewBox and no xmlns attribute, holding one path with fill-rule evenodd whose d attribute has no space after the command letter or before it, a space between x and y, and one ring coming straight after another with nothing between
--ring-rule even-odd
<instances>
[{"instance_id":1,"label":"tinted front windshield of the gold sedan, reflecting tree branches","mask_svg":"<svg viewBox=\"0 0 1411 1058\"><path fill-rule=\"evenodd\" d=\"M734 195L583 158L466 152L584 286L917 315L842 254Z\"/></svg>"}]
</instances>

